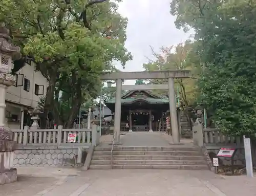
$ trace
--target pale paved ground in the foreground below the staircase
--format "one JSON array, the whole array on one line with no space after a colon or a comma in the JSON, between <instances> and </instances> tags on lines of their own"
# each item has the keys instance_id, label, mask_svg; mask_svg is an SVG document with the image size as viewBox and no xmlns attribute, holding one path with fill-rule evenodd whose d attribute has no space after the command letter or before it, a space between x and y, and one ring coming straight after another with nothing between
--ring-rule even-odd
<instances>
[{"instance_id":1,"label":"pale paved ground in the foreground below the staircase","mask_svg":"<svg viewBox=\"0 0 256 196\"><path fill-rule=\"evenodd\" d=\"M21 167L19 181L0 186L8 196L240 196L256 195L256 179L192 170L89 170Z\"/></svg>"}]
</instances>

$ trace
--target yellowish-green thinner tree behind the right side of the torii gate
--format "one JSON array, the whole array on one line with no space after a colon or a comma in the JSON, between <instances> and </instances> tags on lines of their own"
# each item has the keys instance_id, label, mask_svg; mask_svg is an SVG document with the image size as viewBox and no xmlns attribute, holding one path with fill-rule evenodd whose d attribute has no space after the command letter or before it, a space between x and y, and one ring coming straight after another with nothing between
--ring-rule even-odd
<instances>
[{"instance_id":1,"label":"yellowish-green thinner tree behind the right side of the torii gate","mask_svg":"<svg viewBox=\"0 0 256 196\"><path fill-rule=\"evenodd\" d=\"M181 101L186 105L195 102L197 94L196 77L200 73L200 63L198 54L196 53L197 42L186 41L177 46L161 48L158 54L152 49L155 57L143 65L146 71L156 70L191 70L193 77L188 79L176 79L176 86L179 87ZM151 80L150 83L162 84L167 80ZM167 95L167 91L158 91L158 94Z\"/></svg>"}]
</instances>

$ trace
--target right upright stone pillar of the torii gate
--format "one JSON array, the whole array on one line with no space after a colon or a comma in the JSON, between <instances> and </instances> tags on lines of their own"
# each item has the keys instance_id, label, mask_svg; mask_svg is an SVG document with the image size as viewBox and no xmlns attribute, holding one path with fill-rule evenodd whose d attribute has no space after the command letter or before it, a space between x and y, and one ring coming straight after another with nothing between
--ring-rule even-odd
<instances>
[{"instance_id":1,"label":"right upright stone pillar of the torii gate","mask_svg":"<svg viewBox=\"0 0 256 196\"><path fill-rule=\"evenodd\" d=\"M178 125L177 111L176 111L174 78L168 78L168 88L169 88L170 124L172 126L173 142L175 144L179 144L180 137L179 137L179 125Z\"/></svg>"}]
</instances>

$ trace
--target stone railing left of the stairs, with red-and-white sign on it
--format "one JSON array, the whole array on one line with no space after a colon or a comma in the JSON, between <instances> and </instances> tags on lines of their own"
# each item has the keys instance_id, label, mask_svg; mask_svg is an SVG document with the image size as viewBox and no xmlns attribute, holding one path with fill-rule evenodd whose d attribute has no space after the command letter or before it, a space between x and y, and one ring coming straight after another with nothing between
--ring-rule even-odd
<instances>
[{"instance_id":1,"label":"stone railing left of the stairs, with red-and-white sign on it","mask_svg":"<svg viewBox=\"0 0 256 196\"><path fill-rule=\"evenodd\" d=\"M58 126L55 129L33 129L29 126L25 126L23 130L14 129L13 137L14 141L18 143L18 146L27 145L66 145L68 144L68 134L76 134L76 142L72 145L97 145L99 139L99 133L97 132L97 125L93 125L92 128L81 129L63 129L62 126Z\"/></svg>"}]
</instances>

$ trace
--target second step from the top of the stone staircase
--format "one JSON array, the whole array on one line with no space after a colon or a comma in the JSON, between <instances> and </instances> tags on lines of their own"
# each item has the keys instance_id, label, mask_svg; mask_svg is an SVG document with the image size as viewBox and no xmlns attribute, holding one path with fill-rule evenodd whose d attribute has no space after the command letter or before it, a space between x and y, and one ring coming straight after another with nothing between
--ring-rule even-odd
<instances>
[{"instance_id":1,"label":"second step from the top of the stone staircase","mask_svg":"<svg viewBox=\"0 0 256 196\"><path fill-rule=\"evenodd\" d=\"M94 151L94 155L111 155L111 151ZM113 151L113 155L201 156L199 151Z\"/></svg>"}]
</instances>

